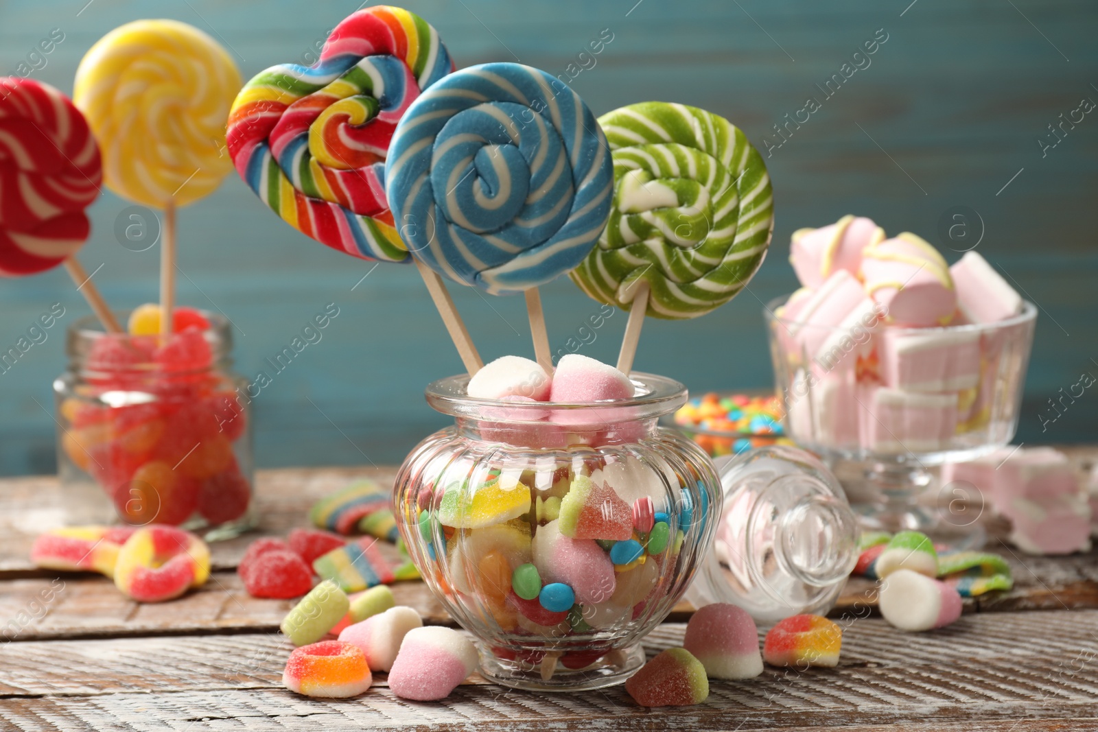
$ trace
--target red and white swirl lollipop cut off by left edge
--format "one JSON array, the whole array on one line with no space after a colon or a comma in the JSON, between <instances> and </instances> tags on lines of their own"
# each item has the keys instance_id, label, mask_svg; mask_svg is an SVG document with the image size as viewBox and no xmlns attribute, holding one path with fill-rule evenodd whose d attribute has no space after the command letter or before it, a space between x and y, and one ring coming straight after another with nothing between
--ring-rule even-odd
<instances>
[{"instance_id":1,"label":"red and white swirl lollipop cut off by left edge","mask_svg":"<svg viewBox=\"0 0 1098 732\"><path fill-rule=\"evenodd\" d=\"M0 78L0 275L76 254L101 180L99 147L72 102L48 85Z\"/></svg>"}]
</instances>

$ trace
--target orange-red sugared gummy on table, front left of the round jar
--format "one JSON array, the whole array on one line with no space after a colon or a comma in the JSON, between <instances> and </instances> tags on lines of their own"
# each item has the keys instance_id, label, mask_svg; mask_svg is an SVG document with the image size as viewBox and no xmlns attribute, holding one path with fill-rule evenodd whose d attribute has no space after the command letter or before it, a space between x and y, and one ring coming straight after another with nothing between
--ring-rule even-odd
<instances>
[{"instance_id":1,"label":"orange-red sugared gummy on table, front left of the round jar","mask_svg":"<svg viewBox=\"0 0 1098 732\"><path fill-rule=\"evenodd\" d=\"M294 649L285 662L285 688L310 697L345 699L362 694L373 680L358 646L323 641Z\"/></svg>"}]
</instances>

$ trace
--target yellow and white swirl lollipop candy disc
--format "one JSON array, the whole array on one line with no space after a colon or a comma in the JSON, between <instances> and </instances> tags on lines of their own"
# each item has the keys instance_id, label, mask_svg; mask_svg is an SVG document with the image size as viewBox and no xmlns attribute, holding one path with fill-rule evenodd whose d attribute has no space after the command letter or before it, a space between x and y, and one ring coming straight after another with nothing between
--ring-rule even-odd
<instances>
[{"instance_id":1,"label":"yellow and white swirl lollipop candy disc","mask_svg":"<svg viewBox=\"0 0 1098 732\"><path fill-rule=\"evenodd\" d=\"M76 70L72 101L103 147L107 187L136 203L186 205L232 169L225 117L240 72L202 31L134 21L96 42Z\"/></svg>"}]
</instances>

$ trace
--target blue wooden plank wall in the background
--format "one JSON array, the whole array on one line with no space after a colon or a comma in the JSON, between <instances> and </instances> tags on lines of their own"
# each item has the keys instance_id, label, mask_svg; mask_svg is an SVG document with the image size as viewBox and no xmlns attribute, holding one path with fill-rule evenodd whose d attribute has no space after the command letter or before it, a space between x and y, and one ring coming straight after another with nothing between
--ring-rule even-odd
<instances>
[{"instance_id":1,"label":"blue wooden plank wall in the background","mask_svg":"<svg viewBox=\"0 0 1098 732\"><path fill-rule=\"evenodd\" d=\"M71 92L87 48L112 27L167 16L231 47L245 78L298 60L357 2L334 0L0 1L0 72L60 29L64 42L34 77ZM848 212L887 232L938 238L954 206L983 219L978 251L1041 307L1019 439L1098 440L1098 393L1042 433L1047 399L1084 371L1098 375L1098 114L1055 147L1039 139L1060 114L1098 100L1098 5L1086 0L407 0L440 32L459 66L519 59L564 74L589 41L613 41L573 86L596 114L658 99L709 109L770 147L776 230L750 290L688 323L649 322L637 367L692 391L771 383L762 302L794 288L789 234ZM82 10L81 10L82 9ZM833 97L822 86L864 41L887 34ZM41 59L35 65L42 66ZM860 61L864 65L864 61ZM589 63L590 65L590 63ZM776 147L773 125L821 109ZM800 119L804 119L800 115ZM1077 115L1076 115L1077 119ZM1066 127L1065 127L1066 128ZM1019 171L1021 171L1019 173ZM1017 177L1016 177L1016 173ZM1009 184L1007 184L1009 181ZM1004 188L1006 185L1006 188ZM117 307L156 299L157 250L120 246L115 219L128 204L104 193L81 254ZM415 272L371 267L291 230L235 176L179 215L179 295L234 320L237 367L248 375L288 345L326 303L339 316L256 401L261 466L399 461L444 424L424 385L461 370ZM954 248L963 249L964 245ZM945 252L952 260L957 252ZM485 359L530 352L520 299L453 288ZM567 279L542 289L554 347L597 306ZM0 346L47 309L61 325L0 374L0 474L54 469L51 380L64 367L63 326L87 312L60 271L0 281ZM625 325L616 314L583 352L610 360ZM1042 410L1046 410L1042 413Z\"/></svg>"}]
</instances>

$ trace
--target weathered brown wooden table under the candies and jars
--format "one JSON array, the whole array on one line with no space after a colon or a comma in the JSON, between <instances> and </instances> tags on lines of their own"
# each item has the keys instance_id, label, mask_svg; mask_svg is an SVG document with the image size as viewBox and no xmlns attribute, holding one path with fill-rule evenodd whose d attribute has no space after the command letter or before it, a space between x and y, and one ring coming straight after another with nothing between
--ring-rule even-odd
<instances>
[{"instance_id":1,"label":"weathered brown wooden table under the candies and jars","mask_svg":"<svg viewBox=\"0 0 1098 732\"><path fill-rule=\"evenodd\" d=\"M315 498L393 472L260 472L260 532L284 536ZM531 694L477 676L444 702L416 703L393 696L383 674L363 696L324 701L282 687L291 645L278 624L291 603L249 597L234 572L257 534L214 544L200 590L138 605L105 578L30 565L30 542L57 523L63 499L54 478L0 481L0 730L1098 730L1095 553L1029 558L999 545L1016 588L967 600L960 621L929 633L855 610L873 593L852 582L831 613L844 628L838 668L712 682L695 707L648 710L620 687ZM422 583L393 590L427 622L450 622ZM680 605L648 637L649 655L682 642L691 610Z\"/></svg>"}]
</instances>

